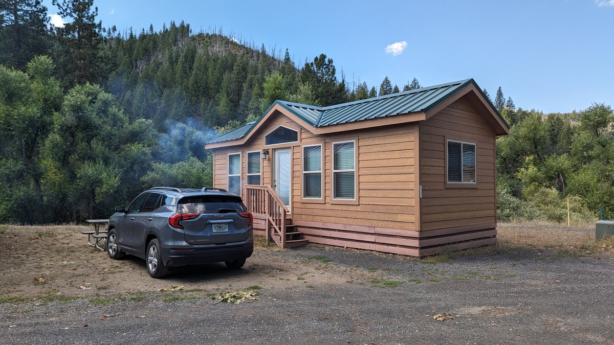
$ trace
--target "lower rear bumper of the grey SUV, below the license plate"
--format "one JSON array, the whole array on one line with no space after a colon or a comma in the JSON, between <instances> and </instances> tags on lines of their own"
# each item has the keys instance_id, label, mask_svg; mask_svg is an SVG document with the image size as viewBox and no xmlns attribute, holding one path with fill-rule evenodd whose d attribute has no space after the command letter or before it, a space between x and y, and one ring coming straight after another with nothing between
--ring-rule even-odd
<instances>
[{"instance_id":1,"label":"lower rear bumper of the grey SUV, below the license plate","mask_svg":"<svg viewBox=\"0 0 614 345\"><path fill-rule=\"evenodd\" d=\"M251 257L254 242L240 246L192 248L173 250L162 248L162 260L167 266L198 265L201 263L233 261L238 258Z\"/></svg>"}]
</instances>

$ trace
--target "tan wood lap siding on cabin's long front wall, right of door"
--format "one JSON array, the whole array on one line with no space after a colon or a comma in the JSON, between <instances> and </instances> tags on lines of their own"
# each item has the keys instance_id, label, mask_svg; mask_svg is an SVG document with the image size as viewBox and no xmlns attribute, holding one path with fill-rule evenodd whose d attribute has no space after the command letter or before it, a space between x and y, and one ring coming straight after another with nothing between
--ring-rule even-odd
<instances>
[{"instance_id":1,"label":"tan wood lap siding on cabin's long front wall, right of door","mask_svg":"<svg viewBox=\"0 0 614 345\"><path fill-rule=\"evenodd\" d=\"M314 138L303 136L301 145L325 141L325 203L301 202L302 152L296 150L293 152L292 220L415 230L415 131L416 125L402 125ZM356 140L359 204L332 203L332 143L346 140ZM336 236L346 236L341 233L338 231ZM348 236L348 240L352 238ZM358 233L354 239L364 240Z\"/></svg>"}]
</instances>

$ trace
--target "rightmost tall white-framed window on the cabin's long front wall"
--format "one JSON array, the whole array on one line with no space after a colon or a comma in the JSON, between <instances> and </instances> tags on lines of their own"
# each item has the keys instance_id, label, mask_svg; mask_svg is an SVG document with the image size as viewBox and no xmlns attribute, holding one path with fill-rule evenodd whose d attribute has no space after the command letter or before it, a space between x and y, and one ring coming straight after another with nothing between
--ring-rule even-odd
<instances>
[{"instance_id":1,"label":"rightmost tall white-framed window on the cabin's long front wall","mask_svg":"<svg viewBox=\"0 0 614 345\"><path fill-rule=\"evenodd\" d=\"M354 142L333 142L333 199L354 200Z\"/></svg>"}]
</instances>

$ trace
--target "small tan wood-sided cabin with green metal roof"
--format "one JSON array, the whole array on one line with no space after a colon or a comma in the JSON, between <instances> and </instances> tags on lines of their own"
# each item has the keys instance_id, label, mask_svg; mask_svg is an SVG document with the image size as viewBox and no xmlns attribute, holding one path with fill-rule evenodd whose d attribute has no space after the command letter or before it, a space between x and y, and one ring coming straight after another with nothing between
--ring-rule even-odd
<instances>
[{"instance_id":1,"label":"small tan wood-sided cabin with green metal roof","mask_svg":"<svg viewBox=\"0 0 614 345\"><path fill-rule=\"evenodd\" d=\"M495 139L473 79L335 106L275 101L205 144L256 235L424 257L497 241Z\"/></svg>"}]
</instances>

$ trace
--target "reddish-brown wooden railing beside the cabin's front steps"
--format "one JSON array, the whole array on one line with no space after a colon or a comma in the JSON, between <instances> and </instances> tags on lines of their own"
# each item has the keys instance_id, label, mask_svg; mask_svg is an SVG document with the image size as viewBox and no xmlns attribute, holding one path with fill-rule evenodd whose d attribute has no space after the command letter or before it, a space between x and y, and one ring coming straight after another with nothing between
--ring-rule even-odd
<instances>
[{"instance_id":1,"label":"reddish-brown wooden railing beside the cabin's front steps","mask_svg":"<svg viewBox=\"0 0 614 345\"><path fill-rule=\"evenodd\" d=\"M265 185L246 185L247 211L265 217L266 242L270 238L286 247L286 215L289 212L273 188Z\"/></svg>"}]
</instances>

